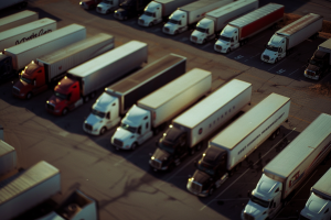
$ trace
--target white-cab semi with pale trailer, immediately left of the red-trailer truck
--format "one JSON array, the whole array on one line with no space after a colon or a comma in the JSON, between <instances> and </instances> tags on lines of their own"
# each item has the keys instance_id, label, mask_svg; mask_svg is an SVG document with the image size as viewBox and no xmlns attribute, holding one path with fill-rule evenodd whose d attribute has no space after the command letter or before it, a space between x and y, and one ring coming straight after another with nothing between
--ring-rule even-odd
<instances>
[{"instance_id":1,"label":"white-cab semi with pale trailer, immediately left of the red-trailer truck","mask_svg":"<svg viewBox=\"0 0 331 220\"><path fill-rule=\"evenodd\" d=\"M196 44L205 44L215 38L228 21L258 8L258 0L235 1L205 14L197 24L190 41Z\"/></svg>"}]
</instances>

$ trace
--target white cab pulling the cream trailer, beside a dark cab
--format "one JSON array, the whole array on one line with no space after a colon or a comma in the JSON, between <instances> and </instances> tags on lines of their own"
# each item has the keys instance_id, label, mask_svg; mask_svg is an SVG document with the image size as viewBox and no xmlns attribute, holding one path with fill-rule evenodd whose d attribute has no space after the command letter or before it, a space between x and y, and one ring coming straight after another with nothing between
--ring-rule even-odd
<instances>
[{"instance_id":1,"label":"white cab pulling the cream trailer, beside a dark cab","mask_svg":"<svg viewBox=\"0 0 331 220\"><path fill-rule=\"evenodd\" d=\"M150 111L134 105L111 136L116 150L135 150L153 135L150 114Z\"/></svg>"}]
</instances>

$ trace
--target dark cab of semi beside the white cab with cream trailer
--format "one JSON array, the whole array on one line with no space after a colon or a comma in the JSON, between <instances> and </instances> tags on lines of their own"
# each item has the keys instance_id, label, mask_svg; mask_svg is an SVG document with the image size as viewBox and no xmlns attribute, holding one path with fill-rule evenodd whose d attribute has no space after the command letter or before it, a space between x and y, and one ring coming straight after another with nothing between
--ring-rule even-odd
<instances>
[{"instance_id":1,"label":"dark cab of semi beside the white cab with cream trailer","mask_svg":"<svg viewBox=\"0 0 331 220\"><path fill-rule=\"evenodd\" d=\"M188 134L175 127L170 125L163 136L157 142L158 148L149 160L153 170L171 170L180 165L181 161L195 150L188 144Z\"/></svg>"}]
</instances>

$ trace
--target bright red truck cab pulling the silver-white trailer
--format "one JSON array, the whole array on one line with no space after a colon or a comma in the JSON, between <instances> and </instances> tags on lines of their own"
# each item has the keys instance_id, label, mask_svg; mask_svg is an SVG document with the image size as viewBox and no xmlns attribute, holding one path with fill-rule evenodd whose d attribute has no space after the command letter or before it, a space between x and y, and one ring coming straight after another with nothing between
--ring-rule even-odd
<instances>
[{"instance_id":1,"label":"bright red truck cab pulling the silver-white trailer","mask_svg":"<svg viewBox=\"0 0 331 220\"><path fill-rule=\"evenodd\" d=\"M83 103L78 80L65 76L54 88L54 95L46 101L46 110L55 116L65 116Z\"/></svg>"}]
</instances>

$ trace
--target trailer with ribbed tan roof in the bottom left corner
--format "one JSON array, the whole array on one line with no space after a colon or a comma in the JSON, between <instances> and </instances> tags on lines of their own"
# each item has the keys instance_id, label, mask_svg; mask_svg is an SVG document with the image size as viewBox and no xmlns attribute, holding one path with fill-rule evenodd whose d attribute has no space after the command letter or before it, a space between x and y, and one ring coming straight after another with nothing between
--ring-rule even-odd
<instances>
[{"instance_id":1,"label":"trailer with ribbed tan roof in the bottom left corner","mask_svg":"<svg viewBox=\"0 0 331 220\"><path fill-rule=\"evenodd\" d=\"M60 170L41 161L0 183L1 219L12 219L60 191Z\"/></svg>"}]
</instances>

